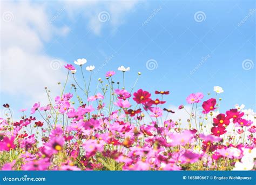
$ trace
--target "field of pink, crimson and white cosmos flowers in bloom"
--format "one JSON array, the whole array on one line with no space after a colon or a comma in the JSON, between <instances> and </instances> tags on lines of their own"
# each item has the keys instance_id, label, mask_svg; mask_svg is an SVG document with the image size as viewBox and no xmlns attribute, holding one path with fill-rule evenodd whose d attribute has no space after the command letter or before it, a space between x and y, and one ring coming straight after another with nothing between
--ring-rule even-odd
<instances>
[{"instance_id":1,"label":"field of pink, crimson and white cosmos flowers in bloom","mask_svg":"<svg viewBox=\"0 0 256 185\"><path fill-rule=\"evenodd\" d=\"M136 86L140 72L126 89L129 67L106 72L90 89L95 66L86 62L66 65L62 92L51 97L45 87L49 104L21 109L20 120L3 105L9 112L0 118L2 170L255 170L255 113L244 105L220 112L223 88L191 93L173 110L165 101L171 91ZM186 119L172 119L177 112Z\"/></svg>"}]
</instances>

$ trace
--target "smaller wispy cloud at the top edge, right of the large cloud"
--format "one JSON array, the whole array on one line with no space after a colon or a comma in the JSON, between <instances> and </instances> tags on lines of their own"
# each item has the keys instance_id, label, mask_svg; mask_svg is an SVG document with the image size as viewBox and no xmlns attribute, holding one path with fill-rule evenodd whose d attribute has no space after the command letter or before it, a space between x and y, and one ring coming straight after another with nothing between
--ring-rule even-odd
<instances>
[{"instance_id":1,"label":"smaller wispy cloud at the top edge, right of the large cloud","mask_svg":"<svg viewBox=\"0 0 256 185\"><path fill-rule=\"evenodd\" d=\"M117 26L124 22L124 15L131 13L135 6L138 4L138 0L130 1L64 1L66 10L69 12L69 16L73 19L82 13L85 18L88 19L90 29L94 31L96 35L100 35L102 28L106 25L106 22L111 24L111 28L114 30ZM86 11L85 11L86 10ZM99 13L106 12L104 18L107 21L100 20Z\"/></svg>"}]
</instances>

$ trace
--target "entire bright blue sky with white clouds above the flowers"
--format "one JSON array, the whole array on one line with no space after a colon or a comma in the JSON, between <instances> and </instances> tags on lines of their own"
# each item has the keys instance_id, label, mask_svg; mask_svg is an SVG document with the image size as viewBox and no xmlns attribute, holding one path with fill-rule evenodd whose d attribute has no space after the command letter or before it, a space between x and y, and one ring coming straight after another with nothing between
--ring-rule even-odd
<instances>
[{"instance_id":1,"label":"entire bright blue sky with white clouds above the flowers","mask_svg":"<svg viewBox=\"0 0 256 185\"><path fill-rule=\"evenodd\" d=\"M51 70L48 65L52 60L63 65L86 58L87 65L95 65L97 70L113 56L93 75L92 89L105 72L117 72L117 67L124 65L131 68L125 74L126 87L133 86L140 71L136 90L168 90L171 94L167 101L171 105L185 104L190 93L213 93L213 86L218 85L225 91L221 94L223 111L234 104L255 109L254 1L48 1L2 5L2 14L12 12L13 20L2 20L8 29L1 35L16 40L1 42L1 52L9 53L1 59L1 104L9 102L15 105L14 109L30 108L32 101L44 96L39 92L44 93L48 82L55 88L53 81L64 81L64 67ZM18 13L24 10L28 15L18 20ZM100 22L98 17L103 11L106 22ZM18 30L10 33L9 26L18 26L13 27ZM157 68L149 70L149 60ZM250 69L242 66L243 61ZM15 66L27 63L32 67L26 66L25 71ZM89 77L89 73L86 75ZM76 76L82 82L80 73ZM117 72L114 79L122 81L122 73Z\"/></svg>"}]
</instances>

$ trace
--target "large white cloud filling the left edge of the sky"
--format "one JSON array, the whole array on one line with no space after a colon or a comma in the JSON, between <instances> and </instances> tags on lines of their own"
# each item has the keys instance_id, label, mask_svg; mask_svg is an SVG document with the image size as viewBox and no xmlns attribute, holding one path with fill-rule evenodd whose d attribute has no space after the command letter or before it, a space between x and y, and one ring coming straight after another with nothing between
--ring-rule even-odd
<instances>
[{"instance_id":1,"label":"large white cloud filling the left edge of the sky","mask_svg":"<svg viewBox=\"0 0 256 185\"><path fill-rule=\"evenodd\" d=\"M55 58L44 54L44 42L56 33L65 35L69 28L49 24L43 4L4 1L1 5L0 91L14 99L21 95L18 106L31 106L47 98L45 86L53 94L59 92L57 82L65 78L64 70L51 69Z\"/></svg>"}]
</instances>

